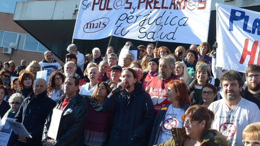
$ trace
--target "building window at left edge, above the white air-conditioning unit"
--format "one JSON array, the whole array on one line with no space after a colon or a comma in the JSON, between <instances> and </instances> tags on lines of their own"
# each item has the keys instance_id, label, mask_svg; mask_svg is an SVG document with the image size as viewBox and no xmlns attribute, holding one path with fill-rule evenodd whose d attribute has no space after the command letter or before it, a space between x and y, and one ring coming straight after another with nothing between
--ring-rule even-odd
<instances>
[{"instance_id":1,"label":"building window at left edge, above the white air-conditioning unit","mask_svg":"<svg viewBox=\"0 0 260 146\"><path fill-rule=\"evenodd\" d=\"M9 47L10 43L17 43L17 37L18 33L16 32L0 31L0 46Z\"/></svg>"}]
</instances>

